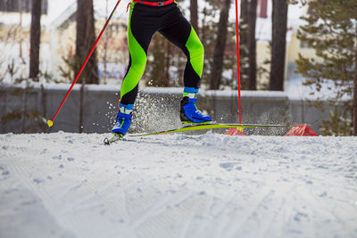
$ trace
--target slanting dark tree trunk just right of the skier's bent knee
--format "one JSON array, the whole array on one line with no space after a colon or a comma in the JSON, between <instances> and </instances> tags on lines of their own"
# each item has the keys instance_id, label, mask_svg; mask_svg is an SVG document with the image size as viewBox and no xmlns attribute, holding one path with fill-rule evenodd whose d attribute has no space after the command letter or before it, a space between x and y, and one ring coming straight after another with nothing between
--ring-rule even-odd
<instances>
[{"instance_id":1,"label":"slanting dark tree trunk just right of the skier's bent knee","mask_svg":"<svg viewBox=\"0 0 357 238\"><path fill-rule=\"evenodd\" d=\"M214 45L210 89L219 89L223 70L223 56L226 49L230 0L224 0L220 10L220 21Z\"/></svg>"}]
</instances>

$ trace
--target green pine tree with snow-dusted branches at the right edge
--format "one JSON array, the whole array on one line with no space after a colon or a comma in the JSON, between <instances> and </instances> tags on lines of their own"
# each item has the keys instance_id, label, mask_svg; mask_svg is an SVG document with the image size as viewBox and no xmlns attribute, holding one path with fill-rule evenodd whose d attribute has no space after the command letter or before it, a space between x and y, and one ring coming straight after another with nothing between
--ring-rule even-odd
<instances>
[{"instance_id":1,"label":"green pine tree with snow-dusted branches at the right edge","mask_svg":"<svg viewBox=\"0 0 357 238\"><path fill-rule=\"evenodd\" d=\"M357 135L356 12L355 0L311 1L303 17L306 25L298 31L299 39L315 50L319 60L300 54L297 70L307 79L305 85L318 92L328 87L328 104L334 108L329 111L331 119L323 121L326 135ZM315 105L320 103L321 98Z\"/></svg>"}]
</instances>

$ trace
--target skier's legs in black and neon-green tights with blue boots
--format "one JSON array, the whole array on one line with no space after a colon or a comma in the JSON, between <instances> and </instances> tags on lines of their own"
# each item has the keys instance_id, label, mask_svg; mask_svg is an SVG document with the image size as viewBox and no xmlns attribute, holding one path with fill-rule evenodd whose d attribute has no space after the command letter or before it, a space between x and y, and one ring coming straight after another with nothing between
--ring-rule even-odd
<instances>
[{"instance_id":1,"label":"skier's legs in black and neon-green tights with blue boots","mask_svg":"<svg viewBox=\"0 0 357 238\"><path fill-rule=\"evenodd\" d=\"M203 116L195 107L195 95L203 71L203 45L195 30L183 17L176 4L153 7L131 3L128 28L130 61L120 89L120 112L112 128L113 133L125 135L129 129L138 82L145 71L147 49L157 30L187 55L181 120L195 123L211 120L211 117Z\"/></svg>"}]
</instances>

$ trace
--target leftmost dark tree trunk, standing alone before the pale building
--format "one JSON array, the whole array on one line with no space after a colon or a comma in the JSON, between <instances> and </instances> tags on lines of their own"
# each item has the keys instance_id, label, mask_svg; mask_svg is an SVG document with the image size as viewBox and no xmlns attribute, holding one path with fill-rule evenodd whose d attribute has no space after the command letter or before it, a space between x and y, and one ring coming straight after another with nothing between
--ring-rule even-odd
<instances>
[{"instance_id":1,"label":"leftmost dark tree trunk, standing alone before the pale building","mask_svg":"<svg viewBox=\"0 0 357 238\"><path fill-rule=\"evenodd\" d=\"M41 37L41 0L32 0L29 50L29 78L38 81L39 44Z\"/></svg>"}]
</instances>

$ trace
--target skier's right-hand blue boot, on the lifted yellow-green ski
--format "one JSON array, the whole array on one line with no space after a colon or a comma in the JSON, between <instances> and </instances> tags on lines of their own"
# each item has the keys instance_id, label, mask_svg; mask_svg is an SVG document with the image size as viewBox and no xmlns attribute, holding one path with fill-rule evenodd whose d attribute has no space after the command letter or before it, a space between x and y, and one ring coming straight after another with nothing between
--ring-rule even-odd
<instances>
[{"instance_id":1,"label":"skier's right-hand blue boot, on the lifted yellow-green ski","mask_svg":"<svg viewBox=\"0 0 357 238\"><path fill-rule=\"evenodd\" d=\"M210 116L204 116L195 106L195 103L197 102L197 93L198 89L195 89L195 87L185 86L184 97L181 100L181 110L179 113L183 124L208 124L212 121Z\"/></svg>"}]
</instances>

